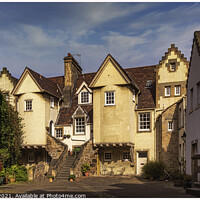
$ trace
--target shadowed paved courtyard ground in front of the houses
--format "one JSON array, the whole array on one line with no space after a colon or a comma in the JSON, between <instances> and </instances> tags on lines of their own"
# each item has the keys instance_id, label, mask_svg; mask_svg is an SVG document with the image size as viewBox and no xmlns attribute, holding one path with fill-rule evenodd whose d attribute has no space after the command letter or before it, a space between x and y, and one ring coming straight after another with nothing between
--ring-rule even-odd
<instances>
[{"instance_id":1,"label":"shadowed paved courtyard ground in front of the houses","mask_svg":"<svg viewBox=\"0 0 200 200\"><path fill-rule=\"evenodd\" d=\"M159 197L192 198L172 182L139 180L128 176L84 177L75 182L30 182L0 186L1 197Z\"/></svg>"}]
</instances>

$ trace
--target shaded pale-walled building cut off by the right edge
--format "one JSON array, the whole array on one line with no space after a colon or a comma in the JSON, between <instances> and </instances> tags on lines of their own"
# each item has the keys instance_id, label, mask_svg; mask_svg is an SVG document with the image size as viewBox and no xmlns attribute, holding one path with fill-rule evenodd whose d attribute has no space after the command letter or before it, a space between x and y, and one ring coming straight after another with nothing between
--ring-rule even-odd
<instances>
[{"instance_id":1,"label":"shaded pale-walled building cut off by the right edge","mask_svg":"<svg viewBox=\"0 0 200 200\"><path fill-rule=\"evenodd\" d=\"M187 82L186 173L198 177L200 159L200 31L194 33Z\"/></svg>"}]
</instances>

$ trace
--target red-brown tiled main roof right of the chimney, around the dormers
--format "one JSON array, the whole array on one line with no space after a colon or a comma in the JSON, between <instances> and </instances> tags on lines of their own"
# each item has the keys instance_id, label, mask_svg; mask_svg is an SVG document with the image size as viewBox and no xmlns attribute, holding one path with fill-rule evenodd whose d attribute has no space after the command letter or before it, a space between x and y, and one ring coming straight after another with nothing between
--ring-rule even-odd
<instances>
[{"instance_id":1,"label":"red-brown tiled main roof right of the chimney, around the dormers","mask_svg":"<svg viewBox=\"0 0 200 200\"><path fill-rule=\"evenodd\" d=\"M138 109L154 108L156 106L156 66L146 66L137 68L124 69L127 75L134 80L140 88ZM72 105L70 108L61 108L56 125L72 124L72 115L78 107L78 96L75 94L82 82L85 81L88 85L91 83L96 73L80 74L76 84ZM152 80L152 87L146 88L147 80ZM81 108L89 115L88 123L93 123L93 106L81 105Z\"/></svg>"}]
</instances>

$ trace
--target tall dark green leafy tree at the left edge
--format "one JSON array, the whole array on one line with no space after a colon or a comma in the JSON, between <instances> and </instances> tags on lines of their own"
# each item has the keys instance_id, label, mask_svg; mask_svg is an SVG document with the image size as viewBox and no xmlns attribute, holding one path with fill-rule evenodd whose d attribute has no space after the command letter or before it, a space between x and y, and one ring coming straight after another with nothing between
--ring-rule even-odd
<instances>
[{"instance_id":1,"label":"tall dark green leafy tree at the left edge","mask_svg":"<svg viewBox=\"0 0 200 200\"><path fill-rule=\"evenodd\" d=\"M22 119L0 91L0 157L4 167L17 164L21 154Z\"/></svg>"}]
</instances>

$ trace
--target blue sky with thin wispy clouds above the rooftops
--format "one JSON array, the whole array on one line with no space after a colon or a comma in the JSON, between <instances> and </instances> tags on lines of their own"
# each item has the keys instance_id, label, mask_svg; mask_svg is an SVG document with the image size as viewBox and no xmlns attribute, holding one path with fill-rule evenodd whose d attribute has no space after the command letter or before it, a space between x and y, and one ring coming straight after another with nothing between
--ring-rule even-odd
<instances>
[{"instance_id":1,"label":"blue sky with thin wispy clouds above the rooftops","mask_svg":"<svg viewBox=\"0 0 200 200\"><path fill-rule=\"evenodd\" d=\"M110 53L122 67L158 64L172 43L190 59L200 3L0 3L0 70L63 75L68 52L95 72Z\"/></svg>"}]
</instances>

